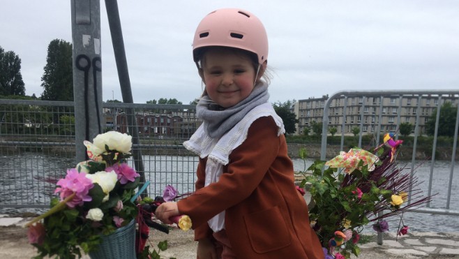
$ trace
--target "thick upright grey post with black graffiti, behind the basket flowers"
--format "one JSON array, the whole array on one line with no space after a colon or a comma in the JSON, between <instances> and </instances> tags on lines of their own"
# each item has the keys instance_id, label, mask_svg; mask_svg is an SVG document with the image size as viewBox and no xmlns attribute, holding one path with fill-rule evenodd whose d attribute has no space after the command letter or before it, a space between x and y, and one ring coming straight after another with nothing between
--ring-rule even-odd
<instances>
[{"instance_id":1,"label":"thick upright grey post with black graffiti, behind the basket flowers","mask_svg":"<svg viewBox=\"0 0 459 259\"><path fill-rule=\"evenodd\" d=\"M84 140L102 133L102 69L100 62L100 1L71 0L73 100L76 162L86 160Z\"/></svg>"}]
</instances>

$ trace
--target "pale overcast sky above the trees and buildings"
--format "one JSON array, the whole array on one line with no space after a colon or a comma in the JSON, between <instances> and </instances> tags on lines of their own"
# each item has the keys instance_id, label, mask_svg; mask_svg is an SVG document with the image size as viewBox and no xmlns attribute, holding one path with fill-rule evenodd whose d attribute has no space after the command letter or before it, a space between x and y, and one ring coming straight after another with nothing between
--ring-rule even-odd
<instances>
[{"instance_id":1,"label":"pale overcast sky above the trees and buildings","mask_svg":"<svg viewBox=\"0 0 459 259\"><path fill-rule=\"evenodd\" d=\"M134 103L176 98L188 104L202 85L193 34L218 8L249 10L262 20L273 71L270 101L342 90L459 89L459 1L158 1L119 0ZM72 42L70 0L2 0L0 46L22 60L26 94L40 87L47 46ZM103 100L121 101L101 6Z\"/></svg>"}]
</instances>

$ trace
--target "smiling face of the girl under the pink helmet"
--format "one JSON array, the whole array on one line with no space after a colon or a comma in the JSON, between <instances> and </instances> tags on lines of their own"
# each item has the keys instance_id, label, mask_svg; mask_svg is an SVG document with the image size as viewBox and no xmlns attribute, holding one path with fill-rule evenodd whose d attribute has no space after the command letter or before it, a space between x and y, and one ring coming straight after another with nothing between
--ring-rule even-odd
<instances>
[{"instance_id":1,"label":"smiling face of the girl under the pink helmet","mask_svg":"<svg viewBox=\"0 0 459 259\"><path fill-rule=\"evenodd\" d=\"M209 50L204 54L203 61L201 76L213 102L229 108L252 92L256 71L247 55L221 49ZM258 75L257 80L261 76Z\"/></svg>"}]
</instances>

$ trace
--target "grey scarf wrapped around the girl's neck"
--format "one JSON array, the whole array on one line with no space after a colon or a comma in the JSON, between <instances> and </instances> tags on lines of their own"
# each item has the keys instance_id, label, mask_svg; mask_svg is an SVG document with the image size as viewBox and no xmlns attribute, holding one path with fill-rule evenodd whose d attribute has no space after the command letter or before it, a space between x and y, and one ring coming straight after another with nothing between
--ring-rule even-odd
<instances>
[{"instance_id":1,"label":"grey scarf wrapped around the girl's neck","mask_svg":"<svg viewBox=\"0 0 459 259\"><path fill-rule=\"evenodd\" d=\"M236 125L253 108L269 100L268 85L257 84L247 98L240 103L223 108L213 103L209 96L203 96L196 106L196 115L204 121L204 131L211 138L220 138Z\"/></svg>"}]
</instances>

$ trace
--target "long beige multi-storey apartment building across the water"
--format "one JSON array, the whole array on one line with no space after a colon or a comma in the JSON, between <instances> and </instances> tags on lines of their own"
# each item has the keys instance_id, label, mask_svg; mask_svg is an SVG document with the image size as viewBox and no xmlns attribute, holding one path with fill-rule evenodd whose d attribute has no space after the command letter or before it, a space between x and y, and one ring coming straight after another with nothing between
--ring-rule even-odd
<instances>
[{"instance_id":1,"label":"long beige multi-storey apartment building across the water","mask_svg":"<svg viewBox=\"0 0 459 259\"><path fill-rule=\"evenodd\" d=\"M306 127L310 127L313 121L322 122L324 116L324 106L329 96L321 98L308 98L299 100L295 103L294 112L299 124L296 126L296 134L303 134ZM418 102L421 105L418 107ZM360 127L363 120L363 133L375 133L378 131L379 119L382 124L380 133L394 132L398 124L409 122L413 126L416 124L416 115L419 112L419 133L426 132L426 122L437 106L449 101L458 105L458 97L442 96L341 96L331 101L329 105L329 128L337 128L337 134L343 131L345 135L353 135L352 128ZM344 112L346 111L346 112ZM345 117L344 117L345 114ZM381 116L380 116L381 114ZM343 120L344 128L343 128ZM311 133L311 131L310 131ZM414 128L412 130L414 133Z\"/></svg>"}]
</instances>

